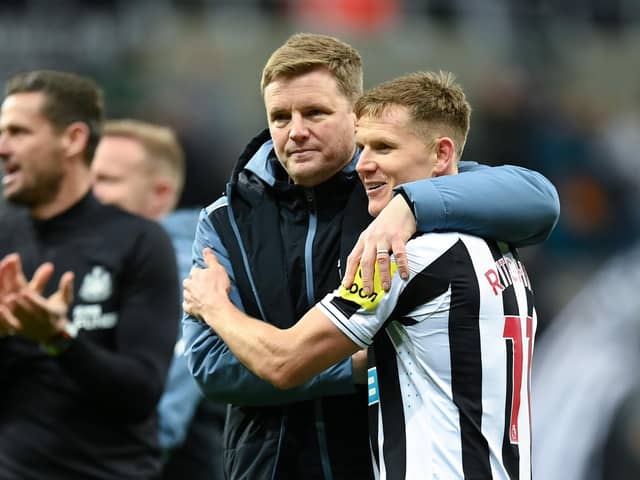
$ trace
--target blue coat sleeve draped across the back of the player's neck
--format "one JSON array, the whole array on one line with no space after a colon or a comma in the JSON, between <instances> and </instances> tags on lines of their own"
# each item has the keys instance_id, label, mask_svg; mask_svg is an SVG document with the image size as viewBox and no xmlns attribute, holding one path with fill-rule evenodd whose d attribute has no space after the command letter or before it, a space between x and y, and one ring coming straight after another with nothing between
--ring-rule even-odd
<instances>
[{"instance_id":1,"label":"blue coat sleeve draped across the back of the player's neck","mask_svg":"<svg viewBox=\"0 0 640 480\"><path fill-rule=\"evenodd\" d=\"M459 231L516 247L545 240L560 215L558 192L526 168L460 162L459 175L397 187L421 232Z\"/></svg>"}]
</instances>

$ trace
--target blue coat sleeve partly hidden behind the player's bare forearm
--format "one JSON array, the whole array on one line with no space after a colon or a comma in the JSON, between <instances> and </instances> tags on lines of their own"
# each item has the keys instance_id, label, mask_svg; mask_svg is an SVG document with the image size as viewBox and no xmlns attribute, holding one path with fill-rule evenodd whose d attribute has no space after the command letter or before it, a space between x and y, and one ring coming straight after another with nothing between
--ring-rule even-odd
<instances>
[{"instance_id":1,"label":"blue coat sleeve partly hidden behind the player's bare forearm","mask_svg":"<svg viewBox=\"0 0 640 480\"><path fill-rule=\"evenodd\" d=\"M225 208L225 205L216 202L209 208ZM196 230L194 264L204 266L204 247L211 248L227 270L232 284L230 299L236 307L244 310L229 255L209 220L207 210L201 213ZM333 365L299 387L280 390L242 365L206 323L185 315L182 324L189 369L202 392L211 401L247 406L281 405L355 391L350 359Z\"/></svg>"}]
</instances>

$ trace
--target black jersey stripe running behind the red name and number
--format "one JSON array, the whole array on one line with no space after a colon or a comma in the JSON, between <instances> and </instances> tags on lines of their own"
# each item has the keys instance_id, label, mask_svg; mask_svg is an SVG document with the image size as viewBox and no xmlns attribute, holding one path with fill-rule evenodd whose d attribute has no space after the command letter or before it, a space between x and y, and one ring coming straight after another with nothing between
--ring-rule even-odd
<instances>
[{"instance_id":1,"label":"black jersey stripe running behind the red name and number","mask_svg":"<svg viewBox=\"0 0 640 480\"><path fill-rule=\"evenodd\" d=\"M496 242L488 241L487 244L489 245L489 249L491 250L493 259L496 262L503 258L500 247ZM518 308L518 300L516 298L513 282L509 282L509 285L505 285L505 287L506 288L502 291L502 305L504 314L519 316L520 310ZM528 308L529 307L527 307L527 310ZM509 478L517 480L518 478L520 478L520 449L518 448L517 444L511 443L511 439L509 438L509 427L511 425L511 409L513 408L513 342L510 342L506 338L504 341L507 352L507 390L504 410L504 432L502 436L502 463L509 473Z\"/></svg>"}]
</instances>

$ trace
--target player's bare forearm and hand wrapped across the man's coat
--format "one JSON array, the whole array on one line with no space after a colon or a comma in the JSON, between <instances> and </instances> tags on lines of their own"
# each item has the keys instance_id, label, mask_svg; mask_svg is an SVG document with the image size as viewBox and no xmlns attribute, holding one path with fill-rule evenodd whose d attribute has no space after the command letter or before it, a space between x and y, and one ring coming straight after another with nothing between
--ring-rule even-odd
<instances>
[{"instance_id":1,"label":"player's bare forearm and hand wrapped across the man's coat","mask_svg":"<svg viewBox=\"0 0 640 480\"><path fill-rule=\"evenodd\" d=\"M231 283L211 250L204 260L206 268L193 268L184 281L183 308L206 321L263 380L289 389L360 350L317 307L285 330L249 317L229 300Z\"/></svg>"}]
</instances>

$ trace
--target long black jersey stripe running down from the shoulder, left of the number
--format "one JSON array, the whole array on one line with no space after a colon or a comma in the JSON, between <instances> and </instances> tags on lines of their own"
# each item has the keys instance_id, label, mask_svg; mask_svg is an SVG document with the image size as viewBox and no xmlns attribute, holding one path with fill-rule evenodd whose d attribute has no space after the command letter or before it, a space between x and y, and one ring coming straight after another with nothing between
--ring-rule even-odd
<instances>
[{"instance_id":1,"label":"long black jersey stripe running down from the shoulder, left of the number","mask_svg":"<svg viewBox=\"0 0 640 480\"><path fill-rule=\"evenodd\" d=\"M426 269L451 283L449 349L451 389L460 411L462 469L465 478L491 478L489 445L482 435L482 351L480 286L467 247L458 240Z\"/></svg>"}]
</instances>

